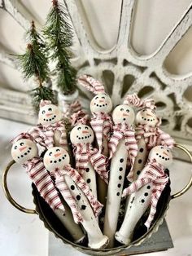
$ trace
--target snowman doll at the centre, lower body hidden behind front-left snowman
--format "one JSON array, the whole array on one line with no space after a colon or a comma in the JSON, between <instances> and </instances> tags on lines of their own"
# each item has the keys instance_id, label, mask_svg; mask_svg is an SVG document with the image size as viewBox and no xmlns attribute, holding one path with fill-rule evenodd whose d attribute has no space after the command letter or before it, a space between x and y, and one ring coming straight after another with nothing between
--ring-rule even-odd
<instances>
[{"instance_id":1,"label":"snowman doll at the centre, lower body hidden behind front-left snowman","mask_svg":"<svg viewBox=\"0 0 192 256\"><path fill-rule=\"evenodd\" d=\"M105 183L108 182L107 157L103 156L98 152L97 148L92 146L94 131L88 125L85 125L85 120L81 120L81 122L76 123L70 134L76 159L76 170L81 174L85 182L88 183L94 196L97 197L95 171Z\"/></svg>"}]
</instances>

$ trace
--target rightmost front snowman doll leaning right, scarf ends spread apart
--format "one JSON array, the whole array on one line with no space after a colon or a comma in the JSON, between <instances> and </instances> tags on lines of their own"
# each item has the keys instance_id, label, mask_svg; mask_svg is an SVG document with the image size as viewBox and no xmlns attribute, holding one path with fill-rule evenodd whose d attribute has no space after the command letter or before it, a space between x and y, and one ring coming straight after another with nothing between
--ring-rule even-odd
<instances>
[{"instance_id":1,"label":"rightmost front snowman doll leaning right, scarf ends spread apart","mask_svg":"<svg viewBox=\"0 0 192 256\"><path fill-rule=\"evenodd\" d=\"M168 183L168 175L165 174L164 170L171 164L172 152L170 148L156 146L151 149L146 166L137 180L124 189L123 196L133 194L133 201L126 210L120 231L116 232L117 241L129 245L132 241L134 227L148 206L150 206L150 213L145 226L149 229L155 216L159 197Z\"/></svg>"}]
</instances>

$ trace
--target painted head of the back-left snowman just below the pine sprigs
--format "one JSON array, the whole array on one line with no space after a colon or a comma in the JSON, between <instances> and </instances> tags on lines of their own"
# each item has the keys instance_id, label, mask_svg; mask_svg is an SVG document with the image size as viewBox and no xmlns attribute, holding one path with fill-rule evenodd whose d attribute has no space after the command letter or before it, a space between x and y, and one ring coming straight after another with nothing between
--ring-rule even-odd
<instances>
[{"instance_id":1,"label":"painted head of the back-left snowman just below the pine sprigs","mask_svg":"<svg viewBox=\"0 0 192 256\"><path fill-rule=\"evenodd\" d=\"M48 104L40 108L38 115L38 122L41 125L54 124L56 121L62 119L62 112L59 107L54 104Z\"/></svg>"}]
</instances>

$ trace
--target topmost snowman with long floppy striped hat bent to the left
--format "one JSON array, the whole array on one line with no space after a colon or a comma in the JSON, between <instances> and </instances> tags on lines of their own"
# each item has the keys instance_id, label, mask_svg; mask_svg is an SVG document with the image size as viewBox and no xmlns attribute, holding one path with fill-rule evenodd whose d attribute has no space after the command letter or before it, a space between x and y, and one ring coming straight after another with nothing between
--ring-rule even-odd
<instances>
[{"instance_id":1,"label":"topmost snowman with long floppy striped hat bent to the left","mask_svg":"<svg viewBox=\"0 0 192 256\"><path fill-rule=\"evenodd\" d=\"M108 141L111 136L113 122L109 114L112 109L112 102L105 93L104 86L88 75L79 77L78 82L81 86L95 94L90 102L90 111L92 113L90 125L98 143L98 151L108 156Z\"/></svg>"}]
</instances>

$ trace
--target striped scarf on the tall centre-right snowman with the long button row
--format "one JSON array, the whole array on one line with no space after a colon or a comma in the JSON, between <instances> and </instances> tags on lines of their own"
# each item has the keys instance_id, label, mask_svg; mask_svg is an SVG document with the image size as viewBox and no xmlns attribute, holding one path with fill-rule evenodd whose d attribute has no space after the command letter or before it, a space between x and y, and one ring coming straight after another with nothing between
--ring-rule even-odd
<instances>
[{"instance_id":1,"label":"striped scarf on the tall centre-right snowman with the long button row","mask_svg":"<svg viewBox=\"0 0 192 256\"><path fill-rule=\"evenodd\" d=\"M120 140L123 138L128 151L129 165L133 167L135 157L137 156L138 147L134 130L127 124L122 123L113 126L113 134L111 135L111 139L109 141L110 158L113 157Z\"/></svg>"}]
</instances>

